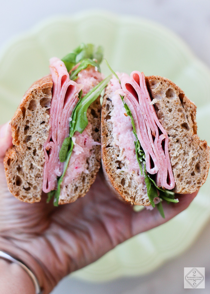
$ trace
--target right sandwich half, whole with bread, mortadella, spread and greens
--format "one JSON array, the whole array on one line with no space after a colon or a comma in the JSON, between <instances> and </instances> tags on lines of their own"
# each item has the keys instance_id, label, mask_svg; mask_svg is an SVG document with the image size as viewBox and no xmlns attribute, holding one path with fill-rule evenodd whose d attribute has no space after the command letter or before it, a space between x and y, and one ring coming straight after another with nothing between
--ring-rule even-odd
<instances>
[{"instance_id":1,"label":"right sandwich half, whole with bread, mortadella, spread and greens","mask_svg":"<svg viewBox=\"0 0 210 294\"><path fill-rule=\"evenodd\" d=\"M178 202L175 193L198 190L209 170L195 104L169 79L139 71L113 72L106 87L101 156L106 180L119 198L157 205L163 217L161 202Z\"/></svg>"}]
</instances>

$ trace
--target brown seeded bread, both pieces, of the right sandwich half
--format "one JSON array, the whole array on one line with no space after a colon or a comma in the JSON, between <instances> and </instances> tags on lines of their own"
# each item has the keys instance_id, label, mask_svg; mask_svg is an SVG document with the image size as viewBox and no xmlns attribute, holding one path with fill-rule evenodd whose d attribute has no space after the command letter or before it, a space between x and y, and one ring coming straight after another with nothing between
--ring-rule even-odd
<instances>
[{"instance_id":1,"label":"brown seeded bread, both pieces, of the right sandwich half","mask_svg":"<svg viewBox=\"0 0 210 294\"><path fill-rule=\"evenodd\" d=\"M146 83L159 121L169 136L169 156L175 179L172 191L193 193L206 181L209 170L209 146L196 134L196 106L169 79L149 76ZM119 151L111 144L111 95L108 86L101 110L101 153L105 177L124 200L147 206L150 202L145 197L144 187L136 187L131 174L125 177L124 173L116 173L120 163L116 160Z\"/></svg>"}]
</instances>

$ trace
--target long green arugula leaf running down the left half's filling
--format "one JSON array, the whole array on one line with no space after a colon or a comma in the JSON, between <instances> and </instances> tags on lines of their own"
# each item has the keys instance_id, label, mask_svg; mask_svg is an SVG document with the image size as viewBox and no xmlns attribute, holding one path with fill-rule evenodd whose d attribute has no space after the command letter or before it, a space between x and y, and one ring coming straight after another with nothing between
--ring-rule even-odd
<instances>
[{"instance_id":1,"label":"long green arugula leaf running down the left half's filling","mask_svg":"<svg viewBox=\"0 0 210 294\"><path fill-rule=\"evenodd\" d=\"M76 131L82 133L86 126L88 125L87 120L87 109L92 102L94 102L98 96L101 94L101 91L106 87L107 83L111 79L111 75L106 77L103 81L101 81L98 85L96 85L89 93L87 93L83 98L79 100L76 107L74 108L70 121L70 131L69 138L65 138L64 143L61 147L61 151L59 154L60 160L64 163L64 170L60 178L58 178L58 186L57 190L50 191L48 193L48 201L54 196L54 206L58 206L59 196L61 191L61 183L63 181L63 177L66 173L66 169L69 164L69 160L71 157L71 153L74 147L74 142L72 141L72 137ZM79 96L81 97L82 91L80 91Z\"/></svg>"}]
</instances>

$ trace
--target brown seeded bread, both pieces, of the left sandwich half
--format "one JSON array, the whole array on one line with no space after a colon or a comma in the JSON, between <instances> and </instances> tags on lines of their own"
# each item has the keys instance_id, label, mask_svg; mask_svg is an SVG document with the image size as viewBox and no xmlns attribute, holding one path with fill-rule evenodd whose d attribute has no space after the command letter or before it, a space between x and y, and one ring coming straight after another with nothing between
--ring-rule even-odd
<instances>
[{"instance_id":1,"label":"brown seeded bread, both pieces, of the left sandwich half","mask_svg":"<svg viewBox=\"0 0 210 294\"><path fill-rule=\"evenodd\" d=\"M25 93L11 120L14 146L4 158L6 180L9 191L24 202L41 200L45 162L43 145L49 135L52 86L51 75L36 81ZM100 142L100 109L99 98L88 109L92 137L97 142ZM74 185L65 187L66 197L59 200L59 204L73 202L86 194L100 168L100 158L100 146L93 146L87 168L89 174L82 173Z\"/></svg>"}]
</instances>

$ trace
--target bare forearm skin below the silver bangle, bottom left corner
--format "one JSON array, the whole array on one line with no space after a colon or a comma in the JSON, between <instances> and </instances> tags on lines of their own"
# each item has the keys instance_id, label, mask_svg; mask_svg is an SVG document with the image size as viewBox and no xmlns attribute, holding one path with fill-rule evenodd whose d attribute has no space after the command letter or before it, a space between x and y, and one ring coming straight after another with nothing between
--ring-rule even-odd
<instances>
[{"instance_id":1,"label":"bare forearm skin below the silver bangle, bottom left corner","mask_svg":"<svg viewBox=\"0 0 210 294\"><path fill-rule=\"evenodd\" d=\"M0 294L34 294L35 288L29 275L16 263L0 258Z\"/></svg>"}]
</instances>

